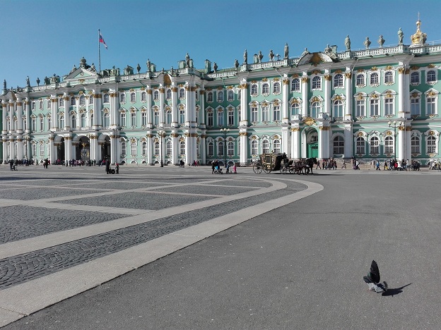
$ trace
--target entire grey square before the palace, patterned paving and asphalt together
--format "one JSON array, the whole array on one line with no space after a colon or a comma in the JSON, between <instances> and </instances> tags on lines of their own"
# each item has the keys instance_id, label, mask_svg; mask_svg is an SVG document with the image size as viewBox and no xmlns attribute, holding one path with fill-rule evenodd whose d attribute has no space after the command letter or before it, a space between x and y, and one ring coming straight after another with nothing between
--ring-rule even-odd
<instances>
[{"instance_id":1,"label":"entire grey square before the palace, patterned paving and asphalt together","mask_svg":"<svg viewBox=\"0 0 441 330\"><path fill-rule=\"evenodd\" d=\"M0 326L437 329L440 178L0 166Z\"/></svg>"}]
</instances>

